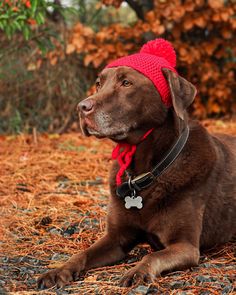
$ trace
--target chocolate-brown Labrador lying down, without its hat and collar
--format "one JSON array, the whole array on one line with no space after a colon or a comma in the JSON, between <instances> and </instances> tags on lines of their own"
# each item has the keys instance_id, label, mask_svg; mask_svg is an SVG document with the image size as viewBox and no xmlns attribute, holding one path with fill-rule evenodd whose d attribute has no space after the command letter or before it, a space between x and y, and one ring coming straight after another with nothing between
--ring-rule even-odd
<instances>
[{"instance_id":1,"label":"chocolate-brown Labrador lying down, without its hat and collar","mask_svg":"<svg viewBox=\"0 0 236 295\"><path fill-rule=\"evenodd\" d=\"M164 271L198 264L199 249L229 241L236 229L236 138L210 135L187 118L195 87L163 69L173 107L167 108L152 82L132 68L102 71L97 93L79 104L86 135L138 144L129 173L153 170L189 126L189 137L178 157L139 194L143 208L125 208L116 193L114 162L107 232L86 251L39 279L42 288L61 287L81 271L113 264L138 243L150 243L156 252L146 255L122 278L122 286L150 282ZM140 138L150 128L148 137ZM123 177L123 181L125 181Z\"/></svg>"}]
</instances>

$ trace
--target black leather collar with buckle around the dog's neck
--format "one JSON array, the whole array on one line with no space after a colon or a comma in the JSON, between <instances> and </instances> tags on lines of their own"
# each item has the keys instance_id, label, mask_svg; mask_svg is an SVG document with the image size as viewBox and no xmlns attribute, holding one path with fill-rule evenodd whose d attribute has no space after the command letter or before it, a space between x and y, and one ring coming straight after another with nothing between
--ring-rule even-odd
<instances>
[{"instance_id":1,"label":"black leather collar with buckle around the dog's neck","mask_svg":"<svg viewBox=\"0 0 236 295\"><path fill-rule=\"evenodd\" d=\"M152 169L152 171L140 174L134 179L130 178L129 181L122 183L116 189L117 196L124 199L126 196L132 195L133 192L140 192L141 190L149 187L154 180L177 159L183 150L188 137L189 127L186 126L176 143L172 146L166 156Z\"/></svg>"}]
</instances>

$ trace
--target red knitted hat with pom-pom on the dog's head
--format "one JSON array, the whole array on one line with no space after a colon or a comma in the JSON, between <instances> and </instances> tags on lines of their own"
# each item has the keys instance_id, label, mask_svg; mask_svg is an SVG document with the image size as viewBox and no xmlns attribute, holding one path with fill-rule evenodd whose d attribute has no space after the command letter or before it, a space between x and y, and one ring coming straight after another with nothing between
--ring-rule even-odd
<instances>
[{"instance_id":1,"label":"red knitted hat with pom-pom on the dog's head","mask_svg":"<svg viewBox=\"0 0 236 295\"><path fill-rule=\"evenodd\" d=\"M133 68L149 78L163 103L168 107L171 106L169 86L161 71L162 68L168 68L176 72L176 54L170 42L161 38L149 41L143 45L139 53L121 57L108 64L106 68L119 66Z\"/></svg>"}]
</instances>

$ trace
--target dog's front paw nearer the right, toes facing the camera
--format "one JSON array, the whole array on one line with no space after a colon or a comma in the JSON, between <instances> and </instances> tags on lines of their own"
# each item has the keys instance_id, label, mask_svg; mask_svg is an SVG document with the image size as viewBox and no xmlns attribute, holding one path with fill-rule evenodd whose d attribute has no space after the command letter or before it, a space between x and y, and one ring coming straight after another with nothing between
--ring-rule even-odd
<instances>
[{"instance_id":1,"label":"dog's front paw nearer the right, toes facing the camera","mask_svg":"<svg viewBox=\"0 0 236 295\"><path fill-rule=\"evenodd\" d=\"M133 285L143 285L144 283L151 284L154 282L154 280L155 276L145 270L145 268L142 269L141 267L133 267L122 277L120 286L130 287Z\"/></svg>"}]
</instances>

